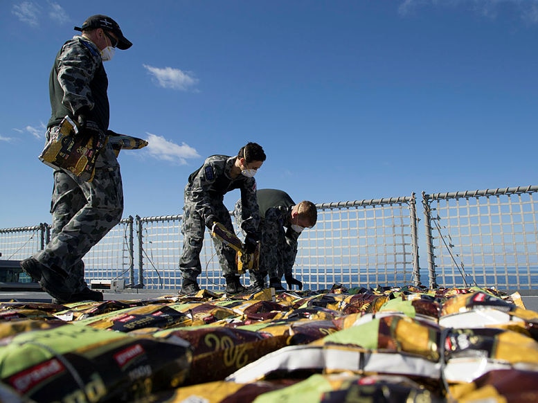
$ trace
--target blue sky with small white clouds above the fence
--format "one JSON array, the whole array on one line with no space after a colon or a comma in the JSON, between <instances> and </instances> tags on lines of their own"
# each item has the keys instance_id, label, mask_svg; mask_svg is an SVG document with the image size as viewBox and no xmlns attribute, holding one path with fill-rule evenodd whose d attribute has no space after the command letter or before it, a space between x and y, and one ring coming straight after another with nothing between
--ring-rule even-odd
<instances>
[{"instance_id":1,"label":"blue sky with small white clouds above the fence","mask_svg":"<svg viewBox=\"0 0 538 403\"><path fill-rule=\"evenodd\" d=\"M124 217L181 214L247 141L296 202L538 184L537 0L2 0L0 228L51 222L48 75L93 14L134 44L105 64L110 128L150 141L120 154Z\"/></svg>"}]
</instances>

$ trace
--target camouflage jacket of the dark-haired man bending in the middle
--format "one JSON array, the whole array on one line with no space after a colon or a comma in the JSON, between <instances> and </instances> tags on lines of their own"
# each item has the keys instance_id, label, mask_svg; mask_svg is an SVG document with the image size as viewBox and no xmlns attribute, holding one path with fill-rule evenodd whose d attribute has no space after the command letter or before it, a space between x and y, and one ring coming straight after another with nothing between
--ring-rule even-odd
<instances>
[{"instance_id":1,"label":"camouflage jacket of the dark-haired man bending in the middle","mask_svg":"<svg viewBox=\"0 0 538 403\"><path fill-rule=\"evenodd\" d=\"M258 233L260 212L256 200L256 181L241 174L232 179L231 169L236 158L226 155L208 157L204 165L189 175L185 202L195 204L196 211L206 220L214 214L213 203L223 203L227 192L240 189L243 204L241 228L246 233Z\"/></svg>"}]
</instances>

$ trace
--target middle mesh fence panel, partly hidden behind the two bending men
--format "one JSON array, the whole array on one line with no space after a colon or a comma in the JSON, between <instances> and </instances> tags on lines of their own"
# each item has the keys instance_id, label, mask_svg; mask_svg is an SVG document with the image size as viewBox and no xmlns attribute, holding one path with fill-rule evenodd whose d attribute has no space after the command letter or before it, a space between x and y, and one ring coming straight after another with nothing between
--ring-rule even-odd
<instances>
[{"instance_id":1,"label":"middle mesh fence panel, partly hidden behind the two bending men","mask_svg":"<svg viewBox=\"0 0 538 403\"><path fill-rule=\"evenodd\" d=\"M414 273L414 197L319 204L318 222L298 239L294 275L310 289L394 285L418 280ZM412 212L411 212L412 211ZM138 217L137 217L138 220ZM233 217L232 217L233 220ZM183 247L181 216L140 219L145 288L179 289ZM242 234L235 226L235 233ZM224 287L213 240L206 231L200 254L201 288ZM141 271L142 273L142 271ZM249 283L249 274L243 276Z\"/></svg>"}]
</instances>

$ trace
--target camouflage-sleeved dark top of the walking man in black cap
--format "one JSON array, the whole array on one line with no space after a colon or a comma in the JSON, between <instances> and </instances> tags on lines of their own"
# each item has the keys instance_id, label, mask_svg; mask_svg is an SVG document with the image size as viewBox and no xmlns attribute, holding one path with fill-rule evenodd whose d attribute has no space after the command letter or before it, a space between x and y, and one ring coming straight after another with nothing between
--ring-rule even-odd
<instances>
[{"instance_id":1,"label":"camouflage-sleeved dark top of the walking man in black cap","mask_svg":"<svg viewBox=\"0 0 538 403\"><path fill-rule=\"evenodd\" d=\"M99 49L89 39L75 36L56 55L48 80L51 119L47 127L72 118L81 107L91 109L91 119L106 131L109 125L108 78Z\"/></svg>"}]
</instances>

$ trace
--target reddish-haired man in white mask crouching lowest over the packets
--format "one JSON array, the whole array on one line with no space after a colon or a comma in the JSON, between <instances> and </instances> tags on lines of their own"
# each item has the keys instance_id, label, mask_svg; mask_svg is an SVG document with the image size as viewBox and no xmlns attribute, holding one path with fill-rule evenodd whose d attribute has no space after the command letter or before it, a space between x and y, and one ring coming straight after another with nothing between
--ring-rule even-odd
<instances>
[{"instance_id":1,"label":"reddish-haired man in white mask crouching lowest over the packets","mask_svg":"<svg viewBox=\"0 0 538 403\"><path fill-rule=\"evenodd\" d=\"M291 289L297 285L303 289L303 283L292 275L297 255L297 240L305 228L312 228L317 221L315 204L306 200L295 204L292 197L283 190L260 189L256 192L260 206L260 268L251 271L254 278L251 291L256 292L266 285L265 277L269 275L269 287L284 291L281 279L285 276ZM243 202L238 200L233 214L238 224L242 222Z\"/></svg>"}]
</instances>

